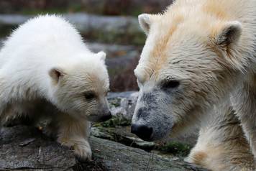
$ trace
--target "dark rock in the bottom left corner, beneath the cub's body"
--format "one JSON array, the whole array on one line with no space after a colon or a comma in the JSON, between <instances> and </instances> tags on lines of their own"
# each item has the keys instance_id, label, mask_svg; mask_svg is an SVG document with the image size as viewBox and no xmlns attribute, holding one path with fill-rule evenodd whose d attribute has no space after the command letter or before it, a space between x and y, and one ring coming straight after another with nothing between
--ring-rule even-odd
<instances>
[{"instance_id":1,"label":"dark rock in the bottom left corner, beneath the cub's body","mask_svg":"<svg viewBox=\"0 0 256 171\"><path fill-rule=\"evenodd\" d=\"M34 127L2 128L0 133L1 170L70 170L76 165L70 149L60 147Z\"/></svg>"}]
</instances>

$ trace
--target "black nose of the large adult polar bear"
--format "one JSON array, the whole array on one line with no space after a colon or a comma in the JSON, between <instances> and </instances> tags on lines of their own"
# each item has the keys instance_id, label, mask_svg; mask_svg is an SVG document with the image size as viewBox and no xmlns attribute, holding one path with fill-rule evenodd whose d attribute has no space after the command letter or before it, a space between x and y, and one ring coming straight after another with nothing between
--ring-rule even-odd
<instances>
[{"instance_id":1,"label":"black nose of the large adult polar bear","mask_svg":"<svg viewBox=\"0 0 256 171\"><path fill-rule=\"evenodd\" d=\"M146 125L132 124L131 132L132 134L136 134L137 137L140 137L141 139L147 142L152 141L151 139L152 139L153 129L151 127L148 127Z\"/></svg>"}]
</instances>

